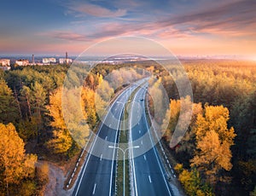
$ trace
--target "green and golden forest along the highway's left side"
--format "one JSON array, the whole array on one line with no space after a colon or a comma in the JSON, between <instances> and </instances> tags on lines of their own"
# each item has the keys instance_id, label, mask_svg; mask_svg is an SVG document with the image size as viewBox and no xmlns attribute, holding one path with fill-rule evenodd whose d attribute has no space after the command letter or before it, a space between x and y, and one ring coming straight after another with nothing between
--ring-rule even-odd
<instances>
[{"instance_id":1,"label":"green and golden forest along the highway's left side","mask_svg":"<svg viewBox=\"0 0 256 196\"><path fill-rule=\"evenodd\" d=\"M36 164L40 160L58 165L64 175L73 171L90 129L94 130L113 95L122 85L142 77L136 65L131 65L133 70L121 69L123 66L100 64L87 78L83 78L82 66L70 74L74 84L83 82L80 104L85 124L69 124L68 129L61 93L69 66L17 66L0 71L0 195L43 194L49 168ZM112 80L103 80L109 73ZM75 110L73 95L77 91L68 90L65 99ZM74 113L70 111L68 119L75 122ZM13 156L15 151L18 157ZM26 193L20 192L20 187Z\"/></svg>"}]
</instances>

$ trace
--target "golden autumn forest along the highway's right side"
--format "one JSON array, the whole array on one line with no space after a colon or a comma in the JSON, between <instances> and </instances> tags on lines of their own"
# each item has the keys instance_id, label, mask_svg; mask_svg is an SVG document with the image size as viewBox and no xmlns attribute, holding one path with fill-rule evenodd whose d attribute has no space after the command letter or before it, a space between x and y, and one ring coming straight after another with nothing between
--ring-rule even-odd
<instances>
[{"instance_id":1,"label":"golden autumn forest along the highway's right side","mask_svg":"<svg viewBox=\"0 0 256 196\"><path fill-rule=\"evenodd\" d=\"M180 102L187 104L191 97L179 97L172 77L158 66L154 66L153 72L158 76L155 83L165 86L170 99L166 118L159 123L168 123L167 129L161 130L162 141L179 163L175 169L185 192L255 194L256 63L191 60L183 61L183 66L193 89L193 112L189 129L175 147L170 141ZM179 71L173 68L172 75L179 76ZM149 97L153 116L154 104Z\"/></svg>"}]
</instances>

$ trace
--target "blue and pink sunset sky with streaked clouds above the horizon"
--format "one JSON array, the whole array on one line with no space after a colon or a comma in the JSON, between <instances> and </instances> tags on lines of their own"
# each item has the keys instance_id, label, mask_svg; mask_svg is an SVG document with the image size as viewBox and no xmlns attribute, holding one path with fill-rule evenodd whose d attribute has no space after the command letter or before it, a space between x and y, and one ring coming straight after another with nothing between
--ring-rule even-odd
<instances>
[{"instance_id":1,"label":"blue and pink sunset sky with streaked clouds above the horizon","mask_svg":"<svg viewBox=\"0 0 256 196\"><path fill-rule=\"evenodd\" d=\"M174 55L256 60L255 10L256 0L3 0L0 55L79 55L109 38L137 36Z\"/></svg>"}]
</instances>

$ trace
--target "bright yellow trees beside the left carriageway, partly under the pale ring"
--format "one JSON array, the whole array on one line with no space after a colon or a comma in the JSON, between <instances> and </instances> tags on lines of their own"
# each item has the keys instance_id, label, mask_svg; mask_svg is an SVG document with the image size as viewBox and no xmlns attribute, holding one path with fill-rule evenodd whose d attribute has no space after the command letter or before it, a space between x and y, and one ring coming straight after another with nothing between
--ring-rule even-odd
<instances>
[{"instance_id":1,"label":"bright yellow trees beside the left carriageway, partly under the pale ring","mask_svg":"<svg viewBox=\"0 0 256 196\"><path fill-rule=\"evenodd\" d=\"M49 95L49 106L46 108L49 110L49 116L53 118L50 122L53 128L53 138L48 141L47 146L53 149L54 153L67 155L70 150L73 153L73 150L76 150L73 147L77 145L84 147L86 137L90 133L90 128L88 124L84 123L84 119L90 117L94 120L94 113L83 110L83 117L82 112L79 112L80 105L75 99L79 92L80 89L64 89L65 96L62 97L62 90L56 89L55 92ZM94 101L92 92L92 89L88 89L89 102ZM62 106L62 99L65 99L65 104L63 104L65 106ZM83 103L83 97L81 97L81 101ZM81 105L83 105L82 103ZM91 105L90 109L93 110ZM64 110L65 119L63 116Z\"/></svg>"}]
</instances>

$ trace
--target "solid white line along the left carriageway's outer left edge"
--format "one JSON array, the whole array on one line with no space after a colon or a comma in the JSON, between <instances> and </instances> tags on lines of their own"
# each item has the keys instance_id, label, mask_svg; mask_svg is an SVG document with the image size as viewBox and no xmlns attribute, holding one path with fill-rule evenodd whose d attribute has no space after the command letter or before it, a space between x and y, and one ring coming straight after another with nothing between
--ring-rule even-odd
<instances>
[{"instance_id":1,"label":"solid white line along the left carriageway's outer left edge","mask_svg":"<svg viewBox=\"0 0 256 196\"><path fill-rule=\"evenodd\" d=\"M123 94L125 94L125 91L123 91L123 92L116 98L115 101L117 101L117 100L119 99L119 97L120 97L121 95L123 95ZM111 111L113 105L114 105L114 104L112 104L112 105L110 106L110 108L109 108L109 110L108 110L108 113ZM103 122L106 121L106 119L107 119L107 117L108 117L108 113L107 113L107 115L105 116ZM99 131L97 132L96 137L94 138L93 144L92 144L92 146L90 147L90 152L92 152L93 147L95 146L95 143L96 143L96 140L97 140L97 138L98 138L98 136L99 136L99 133L100 133L101 130L102 130L102 126L103 126L103 123L101 124L100 129L99 129ZM88 143L87 143L87 144L88 144ZM87 144L86 144L86 146L87 146ZM84 150L85 150L85 148L84 148ZM78 195L78 193L79 193L79 188L80 188L80 186L81 186L82 179L84 178L84 172L85 172L86 167L87 167L87 165L88 165L88 162L89 162L89 160L90 160L90 154L91 154L91 153L89 153L89 156L87 157L87 160L86 160L86 162L85 162L85 165L84 165L84 168L83 168L83 173L82 173L82 176L80 177L79 186L78 186L78 188L77 188L77 191L76 191L75 195ZM112 175L113 175L113 174L111 174L111 176L112 176ZM111 188L112 188L112 186L110 186L109 195L110 195L110 193L111 193Z\"/></svg>"}]
</instances>

